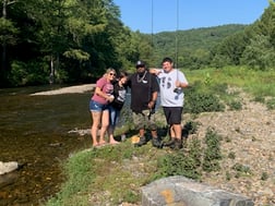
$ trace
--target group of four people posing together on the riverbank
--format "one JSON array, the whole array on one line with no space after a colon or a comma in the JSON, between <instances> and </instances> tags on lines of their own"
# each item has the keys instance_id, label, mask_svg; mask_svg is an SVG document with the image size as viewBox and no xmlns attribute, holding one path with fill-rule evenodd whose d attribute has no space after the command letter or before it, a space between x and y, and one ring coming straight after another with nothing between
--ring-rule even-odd
<instances>
[{"instance_id":1,"label":"group of four people posing together on the riverbank","mask_svg":"<svg viewBox=\"0 0 275 206\"><path fill-rule=\"evenodd\" d=\"M113 138L116 123L120 116L127 95L127 87L131 88L131 110L133 123L139 130L140 141L135 146L147 143L146 130L151 131L152 145L157 148L168 146L174 149L182 147L181 114L183 110L184 93L188 86L184 74L174 68L170 58L164 58L162 69L147 69L145 62L138 61L136 72L128 76L121 72L116 78L116 70L108 69L96 83L96 88L89 101L93 124L91 134L93 146L106 144L105 134L108 133L109 144L118 144ZM163 143L157 134L155 107L160 93L160 106L169 125L170 141ZM99 140L97 140L100 126Z\"/></svg>"}]
</instances>

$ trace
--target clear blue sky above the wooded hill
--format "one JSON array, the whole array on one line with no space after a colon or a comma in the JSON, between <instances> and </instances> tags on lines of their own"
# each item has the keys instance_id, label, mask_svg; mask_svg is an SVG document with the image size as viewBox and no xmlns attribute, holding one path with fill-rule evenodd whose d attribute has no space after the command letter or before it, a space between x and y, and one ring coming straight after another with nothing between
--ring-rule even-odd
<instances>
[{"instance_id":1,"label":"clear blue sky above the wooded hill","mask_svg":"<svg viewBox=\"0 0 275 206\"><path fill-rule=\"evenodd\" d=\"M121 21L145 34L226 24L252 24L268 0L113 0Z\"/></svg>"}]
</instances>

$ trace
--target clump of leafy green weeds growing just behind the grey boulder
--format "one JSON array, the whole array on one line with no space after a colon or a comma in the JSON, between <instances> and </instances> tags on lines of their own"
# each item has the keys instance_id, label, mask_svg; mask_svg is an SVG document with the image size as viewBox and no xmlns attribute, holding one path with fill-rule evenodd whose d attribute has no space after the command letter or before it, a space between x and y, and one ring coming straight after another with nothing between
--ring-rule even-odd
<instances>
[{"instance_id":1,"label":"clump of leafy green weeds growing just behind the grey boulder","mask_svg":"<svg viewBox=\"0 0 275 206\"><path fill-rule=\"evenodd\" d=\"M200 140L193 138L188 145L188 153L180 150L160 157L156 178L184 175L200 179L202 170L207 172L219 170L220 140L222 137L213 129L207 129L205 147L202 147Z\"/></svg>"}]
</instances>

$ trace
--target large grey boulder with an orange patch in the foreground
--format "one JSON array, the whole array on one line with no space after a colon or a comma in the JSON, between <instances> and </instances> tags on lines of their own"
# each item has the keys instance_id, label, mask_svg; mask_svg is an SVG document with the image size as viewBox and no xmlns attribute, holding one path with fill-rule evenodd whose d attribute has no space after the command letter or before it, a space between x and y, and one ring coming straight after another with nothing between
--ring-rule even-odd
<instances>
[{"instance_id":1,"label":"large grey boulder with an orange patch in the foreground","mask_svg":"<svg viewBox=\"0 0 275 206\"><path fill-rule=\"evenodd\" d=\"M201 184L184 177L164 178L142 189L143 206L253 206L242 195Z\"/></svg>"}]
</instances>

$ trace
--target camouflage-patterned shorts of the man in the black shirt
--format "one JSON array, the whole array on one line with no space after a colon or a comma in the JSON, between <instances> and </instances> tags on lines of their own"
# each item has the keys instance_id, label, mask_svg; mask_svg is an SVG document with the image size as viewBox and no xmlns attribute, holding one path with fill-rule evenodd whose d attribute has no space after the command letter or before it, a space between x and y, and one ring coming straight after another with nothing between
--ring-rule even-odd
<instances>
[{"instance_id":1,"label":"camouflage-patterned shorts of the man in the black shirt","mask_svg":"<svg viewBox=\"0 0 275 206\"><path fill-rule=\"evenodd\" d=\"M157 130L155 121L155 114L150 113L150 110L143 110L142 112L133 112L133 123L136 130Z\"/></svg>"}]
</instances>

